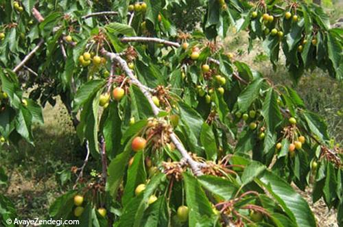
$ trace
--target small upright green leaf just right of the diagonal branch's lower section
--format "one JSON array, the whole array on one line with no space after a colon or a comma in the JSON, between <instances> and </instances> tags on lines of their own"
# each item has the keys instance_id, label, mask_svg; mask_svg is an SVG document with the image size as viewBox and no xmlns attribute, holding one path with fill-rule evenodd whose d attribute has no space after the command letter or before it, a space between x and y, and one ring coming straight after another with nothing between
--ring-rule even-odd
<instances>
[{"instance_id":1,"label":"small upright green leaf just right of the diagonal branch's lower section","mask_svg":"<svg viewBox=\"0 0 343 227\"><path fill-rule=\"evenodd\" d=\"M200 141L205 147L205 152L208 160L217 160L217 144L215 143L215 135L212 127L207 123L202 124Z\"/></svg>"}]
</instances>

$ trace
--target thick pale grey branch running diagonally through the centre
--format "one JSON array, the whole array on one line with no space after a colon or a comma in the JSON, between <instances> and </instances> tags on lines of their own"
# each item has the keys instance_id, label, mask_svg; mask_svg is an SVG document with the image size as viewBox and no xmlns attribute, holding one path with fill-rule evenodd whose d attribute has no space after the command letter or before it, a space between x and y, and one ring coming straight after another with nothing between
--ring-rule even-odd
<instances>
[{"instance_id":1,"label":"thick pale grey branch running diagonally through the centre","mask_svg":"<svg viewBox=\"0 0 343 227\"><path fill-rule=\"evenodd\" d=\"M145 86L143 86L143 84L141 84L141 82L137 80L137 78L134 76L132 71L129 69L126 61L123 60L123 58L121 58L119 54L108 52L105 49L102 49L100 53L102 53L102 55L109 58L112 62L117 62L117 64L119 64L119 66L126 73L126 75L130 77L132 84L137 85L139 89L141 90L141 92L143 93L143 95L147 98L147 101L149 101L149 104L152 107L152 111L154 112L154 115L155 116L158 115L158 113L160 112L160 109L154 104L154 101L152 101L152 95L150 94L149 91L147 91ZM198 163L195 160L193 160L193 158L191 158L191 156L188 154L187 150L182 145L182 143L180 143L178 137L176 136L176 134L174 134L174 132L171 132L170 139L174 143L176 148L180 151L182 157L185 158L185 160L187 160L187 163L189 163L189 165L191 166L191 169L193 170L193 174L195 174L196 176L201 176L202 175L201 168L204 166L204 164Z\"/></svg>"}]
</instances>

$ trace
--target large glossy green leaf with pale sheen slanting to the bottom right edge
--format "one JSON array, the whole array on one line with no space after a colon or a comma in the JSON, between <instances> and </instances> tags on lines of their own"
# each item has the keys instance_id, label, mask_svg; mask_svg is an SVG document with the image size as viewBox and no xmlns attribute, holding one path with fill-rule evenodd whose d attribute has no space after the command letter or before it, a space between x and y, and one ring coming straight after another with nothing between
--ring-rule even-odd
<instances>
[{"instance_id":1,"label":"large glossy green leaf with pale sheen slanting to the bottom right edge","mask_svg":"<svg viewBox=\"0 0 343 227\"><path fill-rule=\"evenodd\" d=\"M285 180L270 171L265 171L257 181L263 184L272 197L279 202L288 217L298 226L316 226L316 220L306 200L296 193Z\"/></svg>"}]
</instances>

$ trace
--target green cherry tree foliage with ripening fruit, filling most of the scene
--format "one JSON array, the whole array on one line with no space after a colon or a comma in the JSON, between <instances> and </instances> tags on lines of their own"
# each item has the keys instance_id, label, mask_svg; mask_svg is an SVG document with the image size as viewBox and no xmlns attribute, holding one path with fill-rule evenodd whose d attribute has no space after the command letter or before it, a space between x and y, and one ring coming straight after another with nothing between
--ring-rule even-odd
<instances>
[{"instance_id":1,"label":"green cherry tree foliage with ripening fruit, filling most of the scene","mask_svg":"<svg viewBox=\"0 0 343 227\"><path fill-rule=\"evenodd\" d=\"M88 154L102 165L90 176L84 165L72 169L75 190L56 199L51 217L87 226L315 226L290 186L313 179L314 201L338 208L342 223L342 151L330 146L326 123L292 88L215 42L229 26L248 29L274 65L283 49L294 80L314 67L342 80L342 30L322 8L199 1L202 31L189 34L169 20L177 5L193 7L188 1L0 5L1 141L33 143L32 123L43 123L37 102L59 95L85 144L84 165ZM116 11L91 14L106 8ZM117 87L124 95L111 98ZM3 201L1 221L14 213Z\"/></svg>"}]
</instances>

